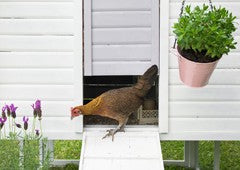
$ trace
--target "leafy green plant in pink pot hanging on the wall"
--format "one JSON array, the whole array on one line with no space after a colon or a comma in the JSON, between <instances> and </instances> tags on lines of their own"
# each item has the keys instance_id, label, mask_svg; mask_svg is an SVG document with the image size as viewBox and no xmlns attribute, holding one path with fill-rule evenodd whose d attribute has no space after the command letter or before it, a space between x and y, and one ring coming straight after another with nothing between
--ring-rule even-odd
<instances>
[{"instance_id":1,"label":"leafy green plant in pink pot hanging on the wall","mask_svg":"<svg viewBox=\"0 0 240 170\"><path fill-rule=\"evenodd\" d=\"M184 4L183 4L184 5ZM186 6L174 24L181 80L192 87L202 87L218 60L236 48L232 33L236 17L225 8L207 5Z\"/></svg>"}]
</instances>

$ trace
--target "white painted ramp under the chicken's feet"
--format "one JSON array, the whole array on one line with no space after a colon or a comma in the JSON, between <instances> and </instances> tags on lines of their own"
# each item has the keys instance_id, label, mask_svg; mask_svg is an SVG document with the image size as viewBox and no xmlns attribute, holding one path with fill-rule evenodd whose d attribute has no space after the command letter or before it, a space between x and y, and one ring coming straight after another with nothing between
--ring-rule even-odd
<instances>
[{"instance_id":1,"label":"white painted ramp under the chicken's feet","mask_svg":"<svg viewBox=\"0 0 240 170\"><path fill-rule=\"evenodd\" d=\"M163 170L158 132L84 132L79 170Z\"/></svg>"}]
</instances>

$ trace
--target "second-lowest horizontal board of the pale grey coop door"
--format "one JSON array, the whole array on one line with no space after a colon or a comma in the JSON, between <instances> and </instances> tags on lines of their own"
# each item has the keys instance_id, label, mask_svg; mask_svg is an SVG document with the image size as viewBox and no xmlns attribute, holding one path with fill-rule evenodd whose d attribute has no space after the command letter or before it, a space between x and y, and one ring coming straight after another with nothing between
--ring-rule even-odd
<instances>
[{"instance_id":1,"label":"second-lowest horizontal board of the pale grey coop door","mask_svg":"<svg viewBox=\"0 0 240 170\"><path fill-rule=\"evenodd\" d=\"M93 45L93 61L151 61L151 45Z\"/></svg>"}]
</instances>

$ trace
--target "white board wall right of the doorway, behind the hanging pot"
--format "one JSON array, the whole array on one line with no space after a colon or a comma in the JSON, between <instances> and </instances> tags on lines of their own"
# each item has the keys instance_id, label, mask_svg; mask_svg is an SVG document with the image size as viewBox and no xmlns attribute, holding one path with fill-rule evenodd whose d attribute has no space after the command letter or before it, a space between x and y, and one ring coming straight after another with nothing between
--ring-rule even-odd
<instances>
[{"instance_id":1,"label":"white board wall right of the doorway, behind the hanging pot","mask_svg":"<svg viewBox=\"0 0 240 170\"><path fill-rule=\"evenodd\" d=\"M169 31L166 31L169 49L174 43L172 26L179 16L181 2L170 0L165 4L166 8L169 5ZM207 0L188 0L187 4L194 7L202 2L208 3ZM169 133L163 135L163 139L240 139L240 1L213 0L213 5L226 7L237 16L238 29L234 33L237 49L221 59L209 85L201 89L189 88L180 82L177 57L169 53L169 61L164 60L169 62L168 69L164 70L169 74L169 110L162 115L164 120L169 118L168 126L162 127L163 132L168 128Z\"/></svg>"}]
</instances>

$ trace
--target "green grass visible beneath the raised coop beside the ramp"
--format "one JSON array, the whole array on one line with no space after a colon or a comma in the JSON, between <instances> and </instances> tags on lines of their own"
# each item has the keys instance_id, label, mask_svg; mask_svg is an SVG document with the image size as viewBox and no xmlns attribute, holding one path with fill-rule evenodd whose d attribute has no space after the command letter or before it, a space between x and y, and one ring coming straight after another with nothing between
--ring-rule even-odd
<instances>
[{"instance_id":1,"label":"green grass visible beneath the raised coop beside the ramp","mask_svg":"<svg viewBox=\"0 0 240 170\"><path fill-rule=\"evenodd\" d=\"M184 142L164 141L161 142L164 160L179 160L184 157ZM79 159L81 151L81 141L55 141L55 159ZM199 162L203 170L213 169L214 142L199 142ZM221 142L221 170L240 169L240 142ZM63 168L52 168L53 170L74 170L76 165L66 165ZM186 170L184 167L166 166L166 170Z\"/></svg>"}]
</instances>

